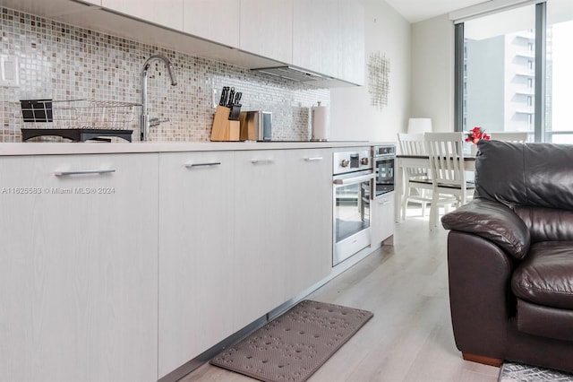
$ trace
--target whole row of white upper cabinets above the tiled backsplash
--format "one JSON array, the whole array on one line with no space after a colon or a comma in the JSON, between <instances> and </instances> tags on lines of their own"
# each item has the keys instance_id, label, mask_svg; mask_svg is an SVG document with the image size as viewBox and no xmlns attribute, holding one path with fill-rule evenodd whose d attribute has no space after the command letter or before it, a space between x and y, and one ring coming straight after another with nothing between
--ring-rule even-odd
<instances>
[{"instance_id":1,"label":"whole row of white upper cabinets above the tiled backsplash","mask_svg":"<svg viewBox=\"0 0 573 382\"><path fill-rule=\"evenodd\" d=\"M363 6L351 0L0 0L0 4L246 68L290 64L364 83Z\"/></svg>"}]
</instances>

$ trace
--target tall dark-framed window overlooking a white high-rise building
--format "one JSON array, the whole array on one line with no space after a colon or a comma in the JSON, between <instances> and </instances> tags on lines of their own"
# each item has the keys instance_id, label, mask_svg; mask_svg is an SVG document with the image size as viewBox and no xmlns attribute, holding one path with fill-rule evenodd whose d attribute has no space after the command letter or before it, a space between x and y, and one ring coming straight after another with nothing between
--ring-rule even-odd
<instances>
[{"instance_id":1,"label":"tall dark-framed window overlooking a white high-rise building","mask_svg":"<svg viewBox=\"0 0 573 382\"><path fill-rule=\"evenodd\" d=\"M573 1L547 0L456 27L456 128L573 143ZM569 111L570 114L570 111Z\"/></svg>"}]
</instances>

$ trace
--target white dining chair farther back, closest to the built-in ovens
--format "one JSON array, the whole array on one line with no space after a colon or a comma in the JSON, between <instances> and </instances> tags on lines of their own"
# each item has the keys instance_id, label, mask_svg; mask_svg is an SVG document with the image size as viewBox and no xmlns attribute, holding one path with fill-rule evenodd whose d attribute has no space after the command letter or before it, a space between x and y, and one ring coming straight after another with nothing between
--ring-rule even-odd
<instances>
[{"instance_id":1,"label":"white dining chair farther back, closest to the built-in ovens","mask_svg":"<svg viewBox=\"0 0 573 382\"><path fill-rule=\"evenodd\" d=\"M423 134L398 133L401 155L426 156ZM430 169L407 167L404 177L404 197L402 198L402 219L406 219L408 203L421 204L422 216L426 214L426 205L432 203L432 179Z\"/></svg>"}]
</instances>

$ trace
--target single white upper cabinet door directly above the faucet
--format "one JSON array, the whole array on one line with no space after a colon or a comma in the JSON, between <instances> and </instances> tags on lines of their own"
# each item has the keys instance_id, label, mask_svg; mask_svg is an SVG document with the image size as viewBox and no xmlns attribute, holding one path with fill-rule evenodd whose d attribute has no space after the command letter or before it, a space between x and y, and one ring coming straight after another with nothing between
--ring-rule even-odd
<instances>
[{"instance_id":1,"label":"single white upper cabinet door directly above the faucet","mask_svg":"<svg viewBox=\"0 0 573 382\"><path fill-rule=\"evenodd\" d=\"M184 0L101 0L101 6L174 30L184 29ZM121 28L118 26L118 28Z\"/></svg>"}]
</instances>

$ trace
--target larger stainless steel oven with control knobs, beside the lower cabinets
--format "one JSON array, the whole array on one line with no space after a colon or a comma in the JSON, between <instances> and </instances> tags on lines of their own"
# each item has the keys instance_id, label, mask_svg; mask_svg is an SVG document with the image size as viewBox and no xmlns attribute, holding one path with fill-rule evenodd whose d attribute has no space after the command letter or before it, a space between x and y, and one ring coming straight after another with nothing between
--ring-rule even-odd
<instances>
[{"instance_id":1,"label":"larger stainless steel oven with control knobs, beside the lower cabinets","mask_svg":"<svg viewBox=\"0 0 573 382\"><path fill-rule=\"evenodd\" d=\"M334 153L332 266L370 245L374 175L370 150Z\"/></svg>"}]
</instances>

